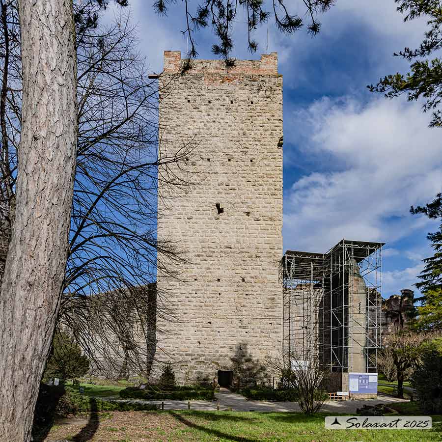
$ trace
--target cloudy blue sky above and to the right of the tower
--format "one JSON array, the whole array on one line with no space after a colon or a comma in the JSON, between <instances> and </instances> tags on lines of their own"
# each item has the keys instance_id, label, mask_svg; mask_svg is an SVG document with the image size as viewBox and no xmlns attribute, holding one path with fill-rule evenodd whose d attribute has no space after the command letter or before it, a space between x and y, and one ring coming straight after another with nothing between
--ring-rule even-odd
<instances>
[{"instance_id":1,"label":"cloudy blue sky above and to the right of the tower","mask_svg":"<svg viewBox=\"0 0 442 442\"><path fill-rule=\"evenodd\" d=\"M164 50L186 52L182 4L168 18L151 3L131 0L140 50L150 69L162 70ZM300 0L293 12L304 13ZM110 14L112 11L109 12ZM284 249L326 251L342 238L386 242L383 293L414 288L421 259L431 254L426 234L437 224L412 216L410 205L442 189L442 130L429 129L419 103L387 100L367 84L407 63L393 52L414 47L425 22L403 23L393 0L338 0L322 16L316 37L300 30L259 29L258 52L244 40L244 17L235 24L237 58L276 51L284 82ZM201 58L214 58L210 30L196 36Z\"/></svg>"}]
</instances>

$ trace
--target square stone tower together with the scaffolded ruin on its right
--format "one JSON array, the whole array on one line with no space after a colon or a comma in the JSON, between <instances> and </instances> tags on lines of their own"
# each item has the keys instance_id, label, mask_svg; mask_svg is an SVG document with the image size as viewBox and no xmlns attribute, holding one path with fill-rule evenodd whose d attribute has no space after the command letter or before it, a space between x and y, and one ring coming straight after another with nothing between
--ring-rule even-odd
<instances>
[{"instance_id":1,"label":"square stone tower together with the scaffolded ruin on its right","mask_svg":"<svg viewBox=\"0 0 442 442\"><path fill-rule=\"evenodd\" d=\"M282 354L292 366L317 358L335 373L334 391L348 389L350 372L376 371L383 244L343 240L327 253L282 256L276 53L229 69L192 60L184 75L182 63L165 52L160 151L193 140L186 171L170 167L201 182L174 195L159 181L158 237L176 241L189 263L179 279L158 268L159 298L170 294L176 321L157 318L156 359L192 382L231 371L238 351L256 361Z\"/></svg>"}]
</instances>

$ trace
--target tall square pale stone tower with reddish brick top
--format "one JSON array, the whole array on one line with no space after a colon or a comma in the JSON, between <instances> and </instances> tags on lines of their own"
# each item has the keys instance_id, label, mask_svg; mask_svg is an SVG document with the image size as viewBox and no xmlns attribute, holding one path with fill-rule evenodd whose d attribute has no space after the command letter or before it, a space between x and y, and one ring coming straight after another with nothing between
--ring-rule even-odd
<instances>
[{"instance_id":1,"label":"tall square pale stone tower with reddish brick top","mask_svg":"<svg viewBox=\"0 0 442 442\"><path fill-rule=\"evenodd\" d=\"M177 321L158 318L156 359L191 382L232 370L238 355L263 361L281 350L282 76L276 53L228 70L194 60L184 75L181 63L165 52L160 151L192 142L182 166L199 183L177 196L159 182L158 238L176 241L190 263L181 280L158 269L158 297Z\"/></svg>"}]
</instances>

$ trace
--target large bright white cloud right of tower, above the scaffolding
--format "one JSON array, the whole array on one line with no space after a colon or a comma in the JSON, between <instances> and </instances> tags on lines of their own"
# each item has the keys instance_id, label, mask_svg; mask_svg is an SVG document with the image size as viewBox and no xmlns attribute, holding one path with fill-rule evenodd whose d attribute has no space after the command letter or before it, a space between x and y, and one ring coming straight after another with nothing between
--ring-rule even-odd
<instances>
[{"instance_id":1,"label":"large bright white cloud right of tower, above the scaffolding","mask_svg":"<svg viewBox=\"0 0 442 442\"><path fill-rule=\"evenodd\" d=\"M441 190L441 133L418 105L375 97L324 98L294 112L301 155L327 163L296 181L284 198L284 246L323 251L342 238L393 242L428 221L410 205ZM295 135L295 129L292 134Z\"/></svg>"}]
</instances>

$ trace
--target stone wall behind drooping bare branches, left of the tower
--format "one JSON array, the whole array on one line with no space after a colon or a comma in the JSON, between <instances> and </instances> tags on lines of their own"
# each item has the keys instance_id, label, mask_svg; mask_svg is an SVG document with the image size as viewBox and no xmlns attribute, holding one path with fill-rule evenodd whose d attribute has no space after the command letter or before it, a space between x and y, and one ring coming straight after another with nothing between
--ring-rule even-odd
<instances>
[{"instance_id":1,"label":"stone wall behind drooping bare branches, left of the tower","mask_svg":"<svg viewBox=\"0 0 442 442\"><path fill-rule=\"evenodd\" d=\"M75 337L90 360L89 375L129 379L151 375L156 352L154 283L71 299L57 327ZM161 314L161 312L160 312Z\"/></svg>"}]
</instances>

